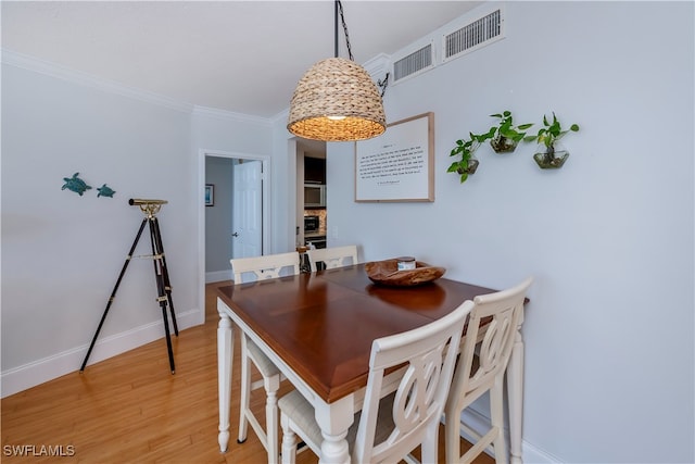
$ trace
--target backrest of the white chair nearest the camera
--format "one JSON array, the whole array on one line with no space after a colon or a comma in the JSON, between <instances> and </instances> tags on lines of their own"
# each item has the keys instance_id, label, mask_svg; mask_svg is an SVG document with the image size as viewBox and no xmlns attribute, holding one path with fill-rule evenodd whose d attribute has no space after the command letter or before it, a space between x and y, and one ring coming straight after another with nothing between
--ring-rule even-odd
<instances>
[{"instance_id":1,"label":"backrest of the white chair nearest the camera","mask_svg":"<svg viewBox=\"0 0 695 464\"><path fill-rule=\"evenodd\" d=\"M448 348L458 347L472 306L466 301L426 326L372 342L353 462L397 462L439 427L458 352ZM375 443L384 372L404 363L405 374L393 397L393 428L386 440Z\"/></svg>"}]
</instances>

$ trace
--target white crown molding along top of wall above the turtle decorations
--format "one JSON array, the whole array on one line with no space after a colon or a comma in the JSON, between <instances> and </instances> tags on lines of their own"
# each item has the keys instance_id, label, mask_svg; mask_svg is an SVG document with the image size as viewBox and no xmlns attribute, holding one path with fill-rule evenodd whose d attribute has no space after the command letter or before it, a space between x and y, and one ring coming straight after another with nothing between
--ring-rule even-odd
<instances>
[{"instance_id":1,"label":"white crown molding along top of wall above the turtle decorations","mask_svg":"<svg viewBox=\"0 0 695 464\"><path fill-rule=\"evenodd\" d=\"M0 51L2 53L2 63L10 66L21 67L47 76L67 80L73 84L96 88L105 92L116 93L123 97L157 104L176 111L182 111L186 113L190 113L193 111L192 104L184 103L169 97L138 89L135 87L125 86L113 80L97 77L81 71L61 66L49 61L40 60L36 57L30 57L28 54L8 50L5 48L0 49Z\"/></svg>"}]
</instances>

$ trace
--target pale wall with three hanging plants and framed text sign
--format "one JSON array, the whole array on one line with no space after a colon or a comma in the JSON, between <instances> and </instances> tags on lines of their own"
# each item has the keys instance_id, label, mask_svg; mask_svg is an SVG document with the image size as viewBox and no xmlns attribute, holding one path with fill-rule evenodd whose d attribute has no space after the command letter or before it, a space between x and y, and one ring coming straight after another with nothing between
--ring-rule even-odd
<instances>
[{"instance_id":1,"label":"pale wall with three hanging plants and framed text sign","mask_svg":"<svg viewBox=\"0 0 695 464\"><path fill-rule=\"evenodd\" d=\"M354 203L353 145L328 143L329 246L491 288L535 277L527 461L695 460L693 16L692 2L508 2L504 40L390 86L389 122L435 114L433 203ZM541 171L533 146L483 147L459 185L455 140L503 110L580 124L569 160Z\"/></svg>"}]
</instances>

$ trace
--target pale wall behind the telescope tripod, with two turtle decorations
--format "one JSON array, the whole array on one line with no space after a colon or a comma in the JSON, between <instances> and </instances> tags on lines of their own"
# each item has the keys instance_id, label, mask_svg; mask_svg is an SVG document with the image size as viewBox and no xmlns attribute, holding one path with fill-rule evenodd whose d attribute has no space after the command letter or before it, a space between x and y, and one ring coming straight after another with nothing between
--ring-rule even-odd
<instances>
[{"instance_id":1,"label":"pale wall behind the telescope tripod, with two turtle decorations","mask_svg":"<svg viewBox=\"0 0 695 464\"><path fill-rule=\"evenodd\" d=\"M179 329L203 321L190 109L13 62L2 66L2 394L79 368L144 217L130 198L168 201L157 217ZM76 172L92 186L83 197L61 190ZM103 184L113 198L97 197ZM148 253L146 230L135 254ZM162 338L155 298L151 261L132 260L90 363Z\"/></svg>"}]
</instances>

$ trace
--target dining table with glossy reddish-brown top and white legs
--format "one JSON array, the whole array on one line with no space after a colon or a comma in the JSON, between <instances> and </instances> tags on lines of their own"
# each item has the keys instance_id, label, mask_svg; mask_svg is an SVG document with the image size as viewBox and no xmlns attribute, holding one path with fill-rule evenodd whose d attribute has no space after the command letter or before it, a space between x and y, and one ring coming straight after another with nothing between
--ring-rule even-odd
<instances>
[{"instance_id":1,"label":"dining table with glossy reddish-brown top and white legs","mask_svg":"<svg viewBox=\"0 0 695 464\"><path fill-rule=\"evenodd\" d=\"M367 385L371 342L493 291L446 278L414 287L376 285L364 264L219 287L220 450L229 441L232 323L314 406L324 436L320 462L348 463L345 436ZM518 331L507 371L513 463L521 462L522 359Z\"/></svg>"}]
</instances>

